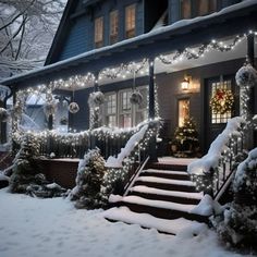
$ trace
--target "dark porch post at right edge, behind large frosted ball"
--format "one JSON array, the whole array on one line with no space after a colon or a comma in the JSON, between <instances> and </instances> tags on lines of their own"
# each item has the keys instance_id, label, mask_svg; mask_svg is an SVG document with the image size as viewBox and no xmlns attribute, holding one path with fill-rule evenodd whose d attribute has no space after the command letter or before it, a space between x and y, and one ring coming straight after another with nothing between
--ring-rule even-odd
<instances>
[{"instance_id":1,"label":"dark porch post at right edge, behind large frosted ball","mask_svg":"<svg viewBox=\"0 0 257 257\"><path fill-rule=\"evenodd\" d=\"M247 57L249 63L255 68L255 35L249 34L247 36ZM249 96L249 111L250 114L257 114L257 85L255 85L253 88L250 88L250 96ZM253 135L253 143L254 146L257 145L257 133L254 132Z\"/></svg>"}]
</instances>

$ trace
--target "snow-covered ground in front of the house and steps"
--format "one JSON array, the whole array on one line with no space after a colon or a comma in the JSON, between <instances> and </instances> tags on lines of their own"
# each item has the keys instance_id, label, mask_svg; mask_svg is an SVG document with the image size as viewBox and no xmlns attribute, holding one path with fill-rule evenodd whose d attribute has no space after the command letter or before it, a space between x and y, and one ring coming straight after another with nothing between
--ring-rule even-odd
<instances>
[{"instance_id":1,"label":"snow-covered ground in front of the house and steps","mask_svg":"<svg viewBox=\"0 0 257 257\"><path fill-rule=\"evenodd\" d=\"M111 223L102 210L77 210L63 198L37 199L0 191L0 256L241 256L222 248L216 233L205 229L192 236Z\"/></svg>"}]
</instances>

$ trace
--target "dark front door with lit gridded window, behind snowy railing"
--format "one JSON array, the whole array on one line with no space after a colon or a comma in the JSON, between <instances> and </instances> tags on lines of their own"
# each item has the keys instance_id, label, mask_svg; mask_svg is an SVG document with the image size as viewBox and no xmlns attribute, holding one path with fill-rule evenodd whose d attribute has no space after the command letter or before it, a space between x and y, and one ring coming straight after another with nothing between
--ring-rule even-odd
<instances>
[{"instance_id":1,"label":"dark front door with lit gridded window, behind snowy railing","mask_svg":"<svg viewBox=\"0 0 257 257\"><path fill-rule=\"evenodd\" d=\"M238 115L240 101L238 101L238 87L235 86L234 75L219 76L206 79L206 135L205 135L205 151L207 152L210 144L215 138L224 130L227 122L232 117ZM231 111L217 112L210 107L210 101L213 96L222 101L223 95L231 90L233 96L233 106ZM218 95L217 95L218 94ZM220 96L220 97L219 97Z\"/></svg>"}]
</instances>

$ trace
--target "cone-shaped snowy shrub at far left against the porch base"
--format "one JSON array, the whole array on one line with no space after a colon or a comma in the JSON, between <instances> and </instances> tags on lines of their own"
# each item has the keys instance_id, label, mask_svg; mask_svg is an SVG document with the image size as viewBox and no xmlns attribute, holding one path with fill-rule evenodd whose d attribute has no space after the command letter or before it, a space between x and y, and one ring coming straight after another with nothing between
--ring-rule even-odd
<instances>
[{"instance_id":1,"label":"cone-shaped snowy shrub at far left against the porch base","mask_svg":"<svg viewBox=\"0 0 257 257\"><path fill-rule=\"evenodd\" d=\"M40 167L37 162L38 155L38 140L33 134L25 134L22 138L21 148L14 158L10 191L37 197L63 195L65 189L61 186L49 187L46 176L40 173Z\"/></svg>"}]
</instances>

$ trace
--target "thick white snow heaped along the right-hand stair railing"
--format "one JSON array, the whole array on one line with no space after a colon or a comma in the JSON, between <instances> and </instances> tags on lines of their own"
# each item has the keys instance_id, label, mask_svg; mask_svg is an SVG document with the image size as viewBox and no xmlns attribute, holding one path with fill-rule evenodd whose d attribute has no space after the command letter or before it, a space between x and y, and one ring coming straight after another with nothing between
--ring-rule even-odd
<instances>
[{"instance_id":1,"label":"thick white snow heaped along the right-hand stair railing","mask_svg":"<svg viewBox=\"0 0 257 257\"><path fill-rule=\"evenodd\" d=\"M238 130L245 124L241 117L235 117L229 120L225 130L211 143L208 154L199 160L193 161L188 166L188 173L191 174L205 174L215 169L219 164L219 159L222 152L228 149L227 144L231 135L238 135Z\"/></svg>"}]
</instances>

